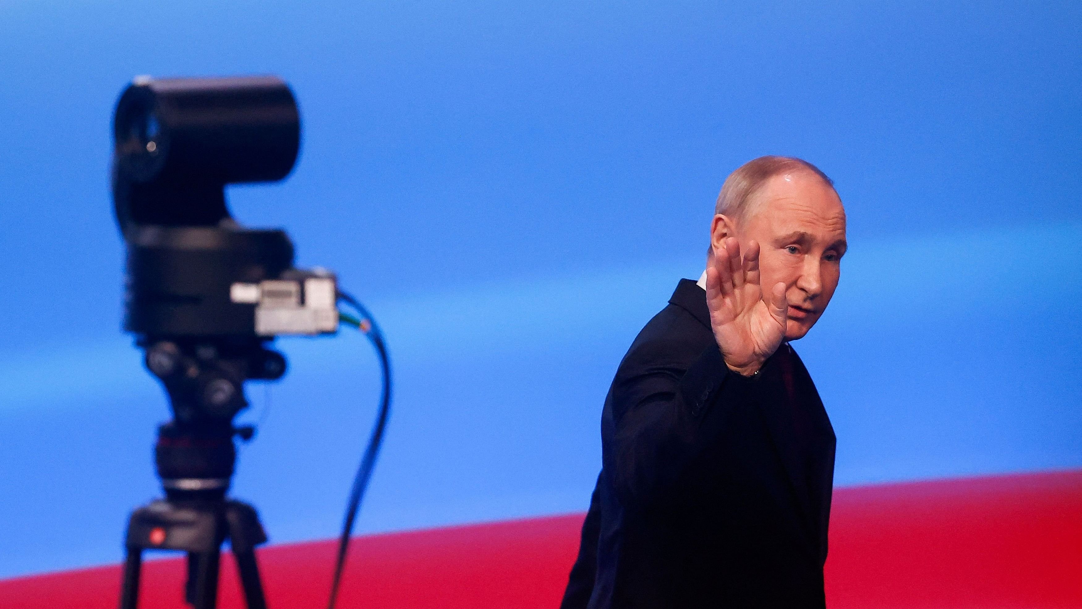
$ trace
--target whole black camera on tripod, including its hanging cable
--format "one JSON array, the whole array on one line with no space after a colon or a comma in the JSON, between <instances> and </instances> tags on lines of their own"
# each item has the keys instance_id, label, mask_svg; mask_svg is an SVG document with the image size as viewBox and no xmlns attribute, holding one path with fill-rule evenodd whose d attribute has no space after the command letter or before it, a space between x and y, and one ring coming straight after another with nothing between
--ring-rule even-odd
<instances>
[{"instance_id":1,"label":"whole black camera on tripod, including its hanging cable","mask_svg":"<svg viewBox=\"0 0 1082 609\"><path fill-rule=\"evenodd\" d=\"M326 269L293 266L280 229L241 226L226 206L230 184L277 182L296 162L301 122L289 85L273 76L136 77L113 120L113 203L127 249L124 331L169 394L171 422L155 461L166 497L132 515L120 606L138 604L145 550L187 553L185 597L213 608L221 546L230 541L250 609L265 606L254 546L266 541L255 511L226 497L236 462L233 426L248 406L243 382L275 380L279 335L334 334L339 322L371 341L383 370L380 410L354 478L331 583L333 609L365 489L391 412L386 345L371 315ZM341 314L346 302L359 317Z\"/></svg>"}]
</instances>

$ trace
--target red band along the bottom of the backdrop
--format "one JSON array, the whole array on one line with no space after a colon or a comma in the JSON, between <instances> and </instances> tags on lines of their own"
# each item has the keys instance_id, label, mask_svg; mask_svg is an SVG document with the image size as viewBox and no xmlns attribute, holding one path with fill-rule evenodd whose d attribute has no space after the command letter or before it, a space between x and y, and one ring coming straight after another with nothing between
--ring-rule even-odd
<instances>
[{"instance_id":1,"label":"red band along the bottom of the backdrop","mask_svg":"<svg viewBox=\"0 0 1082 609\"><path fill-rule=\"evenodd\" d=\"M339 607L558 606L582 515L358 538ZM840 489L832 608L1082 607L1082 471ZM272 607L326 604L334 543L260 551ZM241 607L223 560L221 607ZM116 566L0 582L0 607L113 608ZM142 607L177 608L183 562L144 566Z\"/></svg>"}]
</instances>

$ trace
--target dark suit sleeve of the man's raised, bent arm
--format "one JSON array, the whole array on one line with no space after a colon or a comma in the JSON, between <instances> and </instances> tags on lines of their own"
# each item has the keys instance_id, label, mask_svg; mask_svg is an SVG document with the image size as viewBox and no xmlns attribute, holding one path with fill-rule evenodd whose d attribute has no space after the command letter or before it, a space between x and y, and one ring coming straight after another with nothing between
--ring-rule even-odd
<instances>
[{"instance_id":1,"label":"dark suit sleeve of the man's raised, bent arm","mask_svg":"<svg viewBox=\"0 0 1082 609\"><path fill-rule=\"evenodd\" d=\"M643 345L613 381L603 421L604 469L625 505L650 503L673 485L757 382L730 371L712 342L690 363L665 356L678 350Z\"/></svg>"}]
</instances>

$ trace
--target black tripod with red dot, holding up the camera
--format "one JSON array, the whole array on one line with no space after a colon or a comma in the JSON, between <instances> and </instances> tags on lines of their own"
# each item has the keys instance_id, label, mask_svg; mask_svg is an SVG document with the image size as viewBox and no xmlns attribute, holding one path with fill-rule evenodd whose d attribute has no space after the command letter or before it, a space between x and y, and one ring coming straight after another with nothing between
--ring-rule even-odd
<instances>
[{"instance_id":1,"label":"black tripod with red dot, holding up the camera","mask_svg":"<svg viewBox=\"0 0 1082 609\"><path fill-rule=\"evenodd\" d=\"M226 498L237 455L233 437L250 439L254 429L234 428L232 420L247 406L243 381L281 376L285 358L259 343L161 341L147 348L146 363L166 385L174 420L159 426L155 445L166 497L136 508L128 521L120 609L138 605L145 550L186 552L185 600L195 609L214 609L226 540L248 609L265 609L255 546L267 541L266 533L252 506Z\"/></svg>"}]
</instances>

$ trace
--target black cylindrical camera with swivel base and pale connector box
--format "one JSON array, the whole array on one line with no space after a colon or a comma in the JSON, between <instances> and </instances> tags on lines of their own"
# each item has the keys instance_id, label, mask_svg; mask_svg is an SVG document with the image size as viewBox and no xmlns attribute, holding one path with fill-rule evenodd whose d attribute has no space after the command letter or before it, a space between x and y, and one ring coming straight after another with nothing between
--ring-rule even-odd
<instances>
[{"instance_id":1,"label":"black cylindrical camera with swivel base and pale connector box","mask_svg":"<svg viewBox=\"0 0 1082 609\"><path fill-rule=\"evenodd\" d=\"M273 337L338 328L335 279L293 268L282 230L243 228L227 184L286 177L300 115L276 77L136 78L114 117L113 196L128 246L124 329Z\"/></svg>"}]
</instances>

